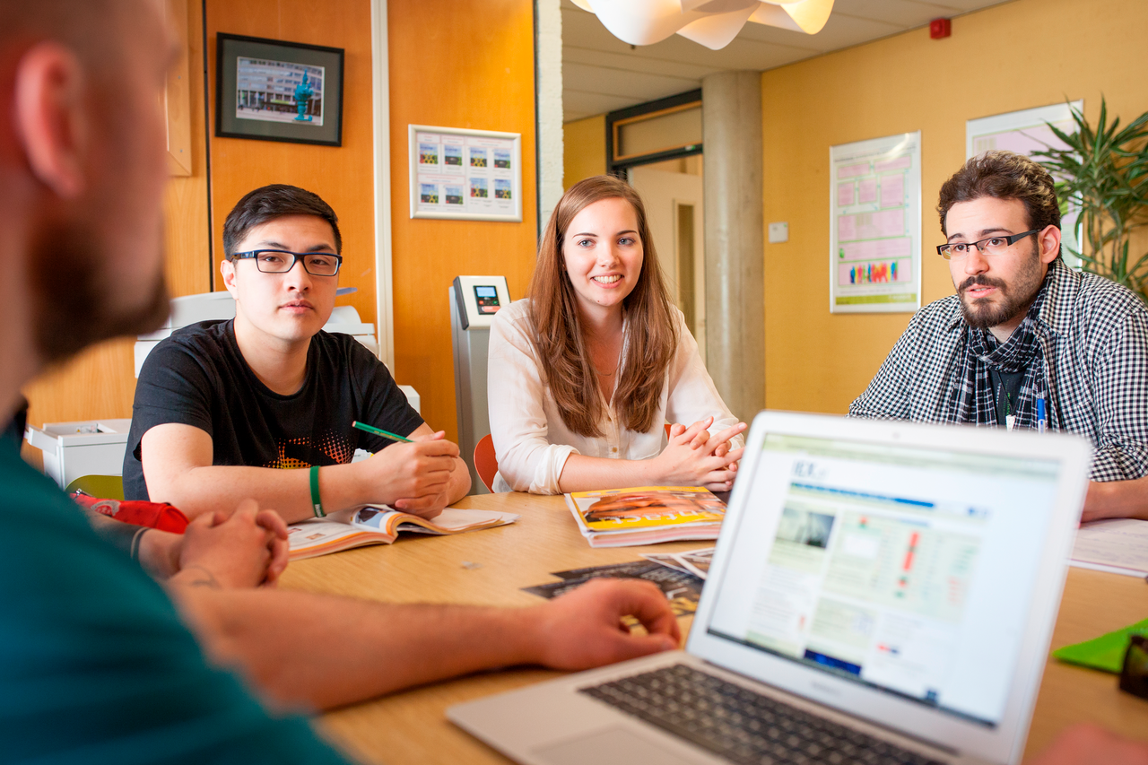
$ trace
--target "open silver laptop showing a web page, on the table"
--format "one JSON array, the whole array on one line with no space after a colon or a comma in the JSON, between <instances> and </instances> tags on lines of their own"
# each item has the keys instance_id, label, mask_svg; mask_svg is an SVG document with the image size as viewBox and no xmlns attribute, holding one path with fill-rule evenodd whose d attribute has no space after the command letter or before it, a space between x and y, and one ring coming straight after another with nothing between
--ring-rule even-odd
<instances>
[{"instance_id":1,"label":"open silver laptop showing a web page, on the table","mask_svg":"<svg viewBox=\"0 0 1148 765\"><path fill-rule=\"evenodd\" d=\"M530 765L1018 763L1091 447L762 412L685 651L448 710Z\"/></svg>"}]
</instances>

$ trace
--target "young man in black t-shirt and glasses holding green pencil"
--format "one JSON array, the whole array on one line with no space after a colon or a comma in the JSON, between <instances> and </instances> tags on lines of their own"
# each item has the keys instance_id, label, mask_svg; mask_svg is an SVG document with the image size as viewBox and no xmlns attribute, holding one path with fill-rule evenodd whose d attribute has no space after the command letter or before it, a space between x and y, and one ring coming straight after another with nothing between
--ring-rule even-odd
<instances>
[{"instance_id":1,"label":"young man in black t-shirt and glasses holding green pencil","mask_svg":"<svg viewBox=\"0 0 1148 765\"><path fill-rule=\"evenodd\" d=\"M321 330L341 249L334 210L311 192L272 185L239 201L220 264L235 318L179 330L148 355L124 455L129 499L195 516L255 497L290 523L365 503L433 517L466 494L458 447L371 351ZM351 464L357 448L377 454Z\"/></svg>"}]
</instances>

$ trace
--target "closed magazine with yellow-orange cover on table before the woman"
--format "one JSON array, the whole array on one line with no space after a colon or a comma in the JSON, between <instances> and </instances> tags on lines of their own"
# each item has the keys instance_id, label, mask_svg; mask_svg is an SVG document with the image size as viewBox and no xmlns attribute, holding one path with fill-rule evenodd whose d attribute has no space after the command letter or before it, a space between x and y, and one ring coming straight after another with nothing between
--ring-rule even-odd
<instances>
[{"instance_id":1,"label":"closed magazine with yellow-orange cover on table before the woman","mask_svg":"<svg viewBox=\"0 0 1148 765\"><path fill-rule=\"evenodd\" d=\"M718 539L726 503L700 486L573 492L566 504L590 547Z\"/></svg>"}]
</instances>

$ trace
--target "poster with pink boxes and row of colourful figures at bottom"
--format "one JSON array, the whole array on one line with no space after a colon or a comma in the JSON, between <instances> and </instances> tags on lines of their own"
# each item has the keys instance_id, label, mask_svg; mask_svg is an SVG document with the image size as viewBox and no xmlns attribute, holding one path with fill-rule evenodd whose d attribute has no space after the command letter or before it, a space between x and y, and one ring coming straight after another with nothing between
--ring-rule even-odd
<instances>
[{"instance_id":1,"label":"poster with pink boxes and row of colourful figures at bottom","mask_svg":"<svg viewBox=\"0 0 1148 765\"><path fill-rule=\"evenodd\" d=\"M829 310L921 308L921 131L829 149Z\"/></svg>"}]
</instances>

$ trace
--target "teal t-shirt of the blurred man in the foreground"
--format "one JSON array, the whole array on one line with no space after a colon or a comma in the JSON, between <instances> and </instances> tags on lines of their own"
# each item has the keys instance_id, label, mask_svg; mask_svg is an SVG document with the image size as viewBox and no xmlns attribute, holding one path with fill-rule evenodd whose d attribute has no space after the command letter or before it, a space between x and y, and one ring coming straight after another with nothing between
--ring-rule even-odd
<instances>
[{"instance_id":1,"label":"teal t-shirt of the blurred man in the foreground","mask_svg":"<svg viewBox=\"0 0 1148 765\"><path fill-rule=\"evenodd\" d=\"M163 589L0 446L0 760L346 763L205 663Z\"/></svg>"}]
</instances>

